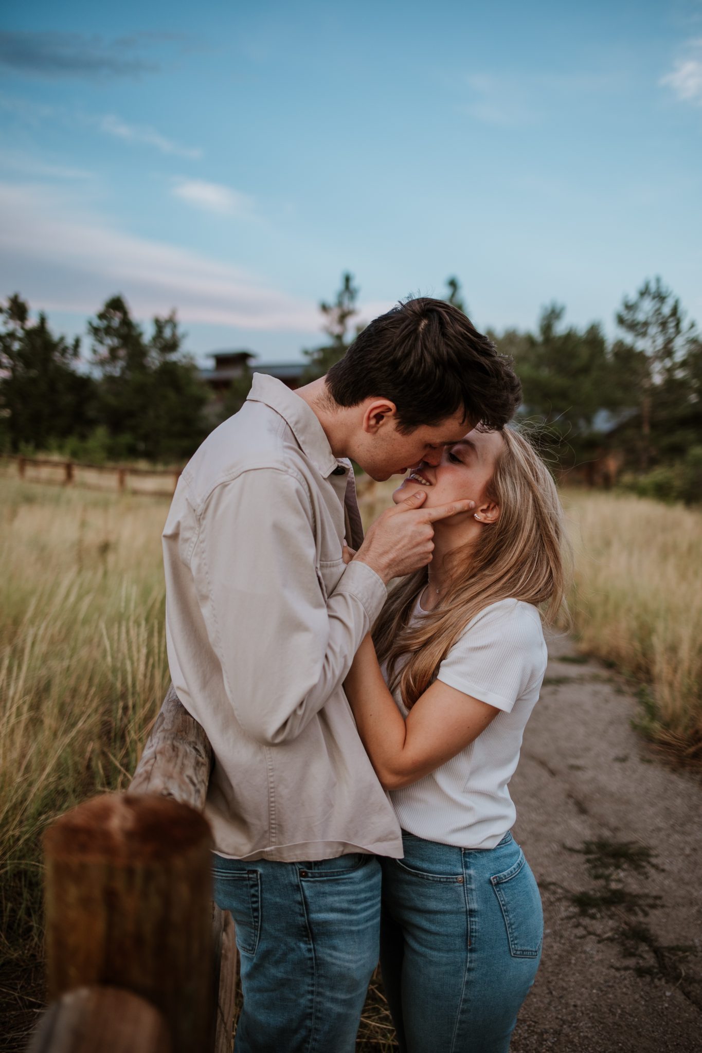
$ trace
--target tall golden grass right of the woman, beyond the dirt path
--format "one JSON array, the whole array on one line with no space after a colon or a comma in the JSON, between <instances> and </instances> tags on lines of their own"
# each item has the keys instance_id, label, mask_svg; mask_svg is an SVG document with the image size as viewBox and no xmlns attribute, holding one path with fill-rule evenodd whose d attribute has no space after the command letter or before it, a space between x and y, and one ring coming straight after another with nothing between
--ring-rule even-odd
<instances>
[{"instance_id":1,"label":"tall golden grass right of the woman, beyond the dirt path","mask_svg":"<svg viewBox=\"0 0 702 1053\"><path fill-rule=\"evenodd\" d=\"M640 684L644 730L702 756L702 513L569 491L570 601L583 651Z\"/></svg>"}]
</instances>

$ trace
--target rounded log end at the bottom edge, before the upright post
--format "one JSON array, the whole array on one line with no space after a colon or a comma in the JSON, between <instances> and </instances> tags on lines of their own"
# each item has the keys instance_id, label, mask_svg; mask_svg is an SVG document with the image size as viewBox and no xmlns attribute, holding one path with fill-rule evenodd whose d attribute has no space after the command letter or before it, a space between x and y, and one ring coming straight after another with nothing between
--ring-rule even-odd
<instances>
[{"instance_id":1,"label":"rounded log end at the bottom edge, before the upright post","mask_svg":"<svg viewBox=\"0 0 702 1053\"><path fill-rule=\"evenodd\" d=\"M131 991L78 988L48 1007L28 1053L172 1053L158 1009Z\"/></svg>"}]
</instances>

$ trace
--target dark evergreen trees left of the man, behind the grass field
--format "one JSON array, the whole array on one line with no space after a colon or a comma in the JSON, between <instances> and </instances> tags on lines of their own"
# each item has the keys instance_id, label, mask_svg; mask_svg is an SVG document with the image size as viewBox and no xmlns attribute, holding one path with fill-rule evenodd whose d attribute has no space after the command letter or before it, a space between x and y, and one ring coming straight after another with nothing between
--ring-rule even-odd
<instances>
[{"instance_id":1,"label":"dark evergreen trees left of the man, behind the grass field","mask_svg":"<svg viewBox=\"0 0 702 1053\"><path fill-rule=\"evenodd\" d=\"M88 322L86 363L80 340L55 336L43 314L33 321L19 295L0 314L0 449L178 462L212 426L175 312L155 318L147 335L113 297Z\"/></svg>"}]
</instances>

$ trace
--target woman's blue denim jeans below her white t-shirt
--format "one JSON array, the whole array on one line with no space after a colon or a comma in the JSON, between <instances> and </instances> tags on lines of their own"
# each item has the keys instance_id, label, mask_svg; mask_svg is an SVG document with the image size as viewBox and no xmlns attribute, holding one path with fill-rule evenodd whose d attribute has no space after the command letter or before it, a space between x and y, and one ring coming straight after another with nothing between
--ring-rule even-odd
<instances>
[{"instance_id":1,"label":"woman's blue denim jeans below her white t-shirt","mask_svg":"<svg viewBox=\"0 0 702 1053\"><path fill-rule=\"evenodd\" d=\"M506 1053L541 958L541 897L506 834L472 851L403 833L382 859L381 965L402 1053Z\"/></svg>"}]
</instances>

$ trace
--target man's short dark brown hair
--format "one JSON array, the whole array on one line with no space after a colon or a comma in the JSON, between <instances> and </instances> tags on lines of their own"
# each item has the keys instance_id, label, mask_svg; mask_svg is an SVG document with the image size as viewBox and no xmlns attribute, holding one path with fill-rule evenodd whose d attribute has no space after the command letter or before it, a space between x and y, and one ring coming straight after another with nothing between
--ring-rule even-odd
<instances>
[{"instance_id":1,"label":"man's short dark brown hair","mask_svg":"<svg viewBox=\"0 0 702 1053\"><path fill-rule=\"evenodd\" d=\"M404 434L460 410L474 426L500 430L521 398L512 360L462 311L426 296L375 318L326 380L339 405L392 399Z\"/></svg>"}]
</instances>

